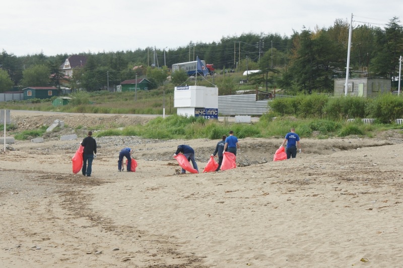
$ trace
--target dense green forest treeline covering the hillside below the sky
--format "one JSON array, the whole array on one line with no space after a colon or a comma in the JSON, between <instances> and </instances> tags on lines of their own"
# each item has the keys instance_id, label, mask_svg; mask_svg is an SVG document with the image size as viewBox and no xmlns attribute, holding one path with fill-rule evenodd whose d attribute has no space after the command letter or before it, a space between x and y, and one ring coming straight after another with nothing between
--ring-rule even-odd
<instances>
[{"instance_id":1,"label":"dense green forest treeline covering the hillside below the sky","mask_svg":"<svg viewBox=\"0 0 403 268\"><path fill-rule=\"evenodd\" d=\"M16 56L12 51L3 50L0 54L0 92L27 86L68 86L95 91L114 87L136 75L149 79L157 88L171 74L172 64L195 60L198 56L206 63L214 64L217 73L259 69L259 74L248 78L251 83L266 88L282 88L288 94L332 93L333 79L346 77L348 39L349 22L337 19L328 28L294 31L290 37L244 33L223 37L219 42L190 41L185 46L165 51L147 47L133 51L83 52L79 54L87 56L87 63L69 80L59 69L71 56L69 54ZM382 27L354 26L350 76L396 80L402 54L403 26L399 18L390 19ZM134 66L143 68L134 70ZM180 73L172 78L175 83L186 79Z\"/></svg>"}]
</instances>

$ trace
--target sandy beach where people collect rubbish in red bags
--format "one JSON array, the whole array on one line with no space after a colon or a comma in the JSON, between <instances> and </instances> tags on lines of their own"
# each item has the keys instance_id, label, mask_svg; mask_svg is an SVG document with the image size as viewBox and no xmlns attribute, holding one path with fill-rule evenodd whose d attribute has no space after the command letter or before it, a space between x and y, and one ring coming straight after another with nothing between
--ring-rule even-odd
<instances>
[{"instance_id":1,"label":"sandy beach where people collect rubbish in red bags","mask_svg":"<svg viewBox=\"0 0 403 268\"><path fill-rule=\"evenodd\" d=\"M218 140L102 137L85 177L72 172L72 157L89 126L147 119L11 116L20 129L55 119L68 127L0 153L2 267L403 266L398 131L301 137L303 152L277 162L282 137L240 139L239 166L211 173L201 171ZM77 140L59 139L78 124ZM179 144L195 149L199 174L176 174ZM136 172L117 172L126 146Z\"/></svg>"}]
</instances>

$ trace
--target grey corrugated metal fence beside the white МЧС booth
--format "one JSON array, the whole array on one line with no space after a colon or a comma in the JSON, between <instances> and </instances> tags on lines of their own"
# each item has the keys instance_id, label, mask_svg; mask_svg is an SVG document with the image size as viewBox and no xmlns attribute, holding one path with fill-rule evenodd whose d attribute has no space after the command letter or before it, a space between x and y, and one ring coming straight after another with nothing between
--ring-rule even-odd
<instances>
[{"instance_id":1,"label":"grey corrugated metal fence beside the white \u041c\u0427\u0421 booth","mask_svg":"<svg viewBox=\"0 0 403 268\"><path fill-rule=\"evenodd\" d=\"M262 115L268 112L268 100L256 101L256 94L218 96L221 115Z\"/></svg>"}]
</instances>

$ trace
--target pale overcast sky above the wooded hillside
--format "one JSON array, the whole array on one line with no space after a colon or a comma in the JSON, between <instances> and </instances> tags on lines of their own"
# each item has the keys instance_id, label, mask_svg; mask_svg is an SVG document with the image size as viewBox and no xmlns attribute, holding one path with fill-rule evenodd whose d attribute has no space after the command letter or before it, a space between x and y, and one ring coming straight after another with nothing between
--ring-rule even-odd
<instances>
[{"instance_id":1,"label":"pale overcast sky above the wooded hillside","mask_svg":"<svg viewBox=\"0 0 403 268\"><path fill-rule=\"evenodd\" d=\"M0 49L17 56L185 47L243 33L291 36L336 19L384 27L402 0L9 0L0 5ZM401 23L400 23L401 24Z\"/></svg>"}]
</instances>

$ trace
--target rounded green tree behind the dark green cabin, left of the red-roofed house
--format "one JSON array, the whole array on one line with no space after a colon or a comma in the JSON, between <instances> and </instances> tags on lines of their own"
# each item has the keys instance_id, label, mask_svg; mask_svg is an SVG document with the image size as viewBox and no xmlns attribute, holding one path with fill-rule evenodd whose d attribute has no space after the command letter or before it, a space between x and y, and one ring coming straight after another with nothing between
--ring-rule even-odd
<instances>
[{"instance_id":1,"label":"rounded green tree behind the dark green cabin, left of the red-roofed house","mask_svg":"<svg viewBox=\"0 0 403 268\"><path fill-rule=\"evenodd\" d=\"M45 65L34 65L22 72L23 79L21 84L23 86L48 86L50 69Z\"/></svg>"}]
</instances>

